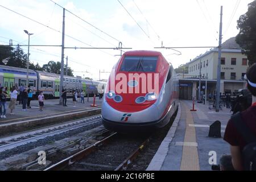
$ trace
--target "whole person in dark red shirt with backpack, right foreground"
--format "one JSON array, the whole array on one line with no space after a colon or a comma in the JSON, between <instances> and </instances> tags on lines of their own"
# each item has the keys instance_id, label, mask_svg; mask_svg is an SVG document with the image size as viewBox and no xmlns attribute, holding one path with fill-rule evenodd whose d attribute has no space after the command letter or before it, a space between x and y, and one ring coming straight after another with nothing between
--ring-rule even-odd
<instances>
[{"instance_id":1,"label":"whole person in dark red shirt with backpack, right foreground","mask_svg":"<svg viewBox=\"0 0 256 182\"><path fill-rule=\"evenodd\" d=\"M230 144L235 170L256 170L256 64L251 65L246 76L247 89L253 104L233 115L226 126L224 140Z\"/></svg>"}]
</instances>

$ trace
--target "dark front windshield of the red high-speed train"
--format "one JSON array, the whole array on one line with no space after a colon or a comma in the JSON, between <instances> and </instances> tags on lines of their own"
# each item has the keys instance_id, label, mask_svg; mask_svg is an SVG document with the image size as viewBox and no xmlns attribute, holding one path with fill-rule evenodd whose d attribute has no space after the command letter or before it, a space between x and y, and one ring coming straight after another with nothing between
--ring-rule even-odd
<instances>
[{"instance_id":1,"label":"dark front windshield of the red high-speed train","mask_svg":"<svg viewBox=\"0 0 256 182\"><path fill-rule=\"evenodd\" d=\"M120 71L124 72L155 72L158 57L126 56Z\"/></svg>"}]
</instances>

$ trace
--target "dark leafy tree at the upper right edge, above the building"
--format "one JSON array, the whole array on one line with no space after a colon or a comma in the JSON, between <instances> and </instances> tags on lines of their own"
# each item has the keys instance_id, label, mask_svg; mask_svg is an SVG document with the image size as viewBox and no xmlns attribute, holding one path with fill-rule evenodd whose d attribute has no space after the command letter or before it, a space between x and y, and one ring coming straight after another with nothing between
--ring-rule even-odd
<instances>
[{"instance_id":1,"label":"dark leafy tree at the upper right edge, above the building","mask_svg":"<svg viewBox=\"0 0 256 182\"><path fill-rule=\"evenodd\" d=\"M247 13L240 16L237 28L240 32L236 36L236 42L242 47L249 65L252 65L256 63L256 0L249 3Z\"/></svg>"}]
</instances>

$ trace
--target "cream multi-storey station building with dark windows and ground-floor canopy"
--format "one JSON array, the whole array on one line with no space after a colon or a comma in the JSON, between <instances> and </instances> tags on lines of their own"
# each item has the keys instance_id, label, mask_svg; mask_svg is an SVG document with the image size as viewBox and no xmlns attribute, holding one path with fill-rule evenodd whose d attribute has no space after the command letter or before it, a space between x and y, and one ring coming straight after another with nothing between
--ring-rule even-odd
<instances>
[{"instance_id":1,"label":"cream multi-storey station building with dark windows and ground-floor canopy","mask_svg":"<svg viewBox=\"0 0 256 182\"><path fill-rule=\"evenodd\" d=\"M180 99L192 100L199 98L199 82L201 71L201 96L214 94L217 83L218 48L197 56L186 64L188 73L179 76ZM236 43L236 38L230 38L222 44L221 50L221 93L234 93L245 88L244 80L247 71L247 56L242 54L241 47ZM207 85L206 85L207 84Z\"/></svg>"}]
</instances>

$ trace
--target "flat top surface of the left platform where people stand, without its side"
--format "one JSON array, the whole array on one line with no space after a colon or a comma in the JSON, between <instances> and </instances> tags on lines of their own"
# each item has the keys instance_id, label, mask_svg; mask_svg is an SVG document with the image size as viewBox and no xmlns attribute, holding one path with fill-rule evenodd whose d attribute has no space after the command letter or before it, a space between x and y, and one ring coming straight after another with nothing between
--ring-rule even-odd
<instances>
[{"instance_id":1,"label":"flat top surface of the left platform where people stand, without its side","mask_svg":"<svg viewBox=\"0 0 256 182\"><path fill-rule=\"evenodd\" d=\"M89 102L87 102L87 98L85 98L85 104L80 103L80 98L78 98L78 102L74 106L72 98L68 98L67 100L67 107L63 105L59 105L59 99L54 100L45 100L43 111L39 111L39 103L36 100L31 101L30 106L31 109L27 109L27 111L22 111L22 105L16 105L13 111L14 115L10 115L9 109L9 102L7 102L7 118L0 118L0 126L6 123L12 123L17 121L26 121L28 119L35 119L35 118L43 118L43 117L50 117L56 114L67 114L73 113L77 111L84 111L84 110L91 110L95 108L101 107L101 102L103 100L99 100L98 97L96 98L96 105L98 107L92 107L90 105L93 104L93 98L89 98ZM19 102L16 102L19 104Z\"/></svg>"}]
</instances>

